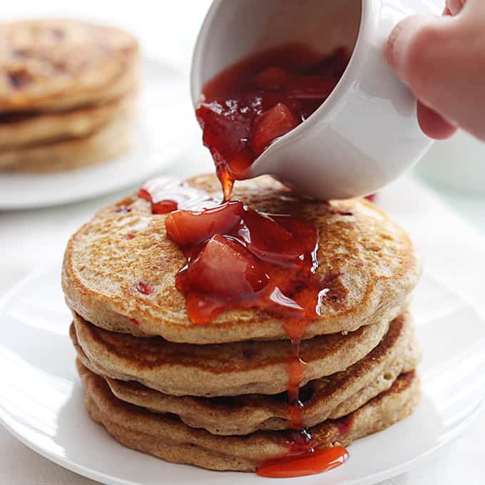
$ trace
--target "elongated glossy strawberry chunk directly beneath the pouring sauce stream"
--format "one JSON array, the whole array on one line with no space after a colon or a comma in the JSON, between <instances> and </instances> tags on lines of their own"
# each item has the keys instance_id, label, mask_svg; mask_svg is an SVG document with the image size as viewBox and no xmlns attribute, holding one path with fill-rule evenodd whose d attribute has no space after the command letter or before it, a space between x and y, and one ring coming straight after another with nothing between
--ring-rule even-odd
<instances>
[{"instance_id":1,"label":"elongated glossy strawberry chunk directly beneath the pouring sauce stream","mask_svg":"<svg viewBox=\"0 0 485 485\"><path fill-rule=\"evenodd\" d=\"M178 246L193 246L208 240L215 234L230 232L242 215L242 203L234 201L203 212L175 210L165 218L168 238Z\"/></svg>"}]
</instances>

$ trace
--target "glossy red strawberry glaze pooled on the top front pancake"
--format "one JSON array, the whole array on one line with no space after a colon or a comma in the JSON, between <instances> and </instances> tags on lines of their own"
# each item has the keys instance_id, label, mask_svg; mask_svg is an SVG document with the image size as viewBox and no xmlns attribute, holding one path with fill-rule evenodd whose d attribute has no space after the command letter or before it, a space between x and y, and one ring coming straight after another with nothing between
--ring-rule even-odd
<instances>
[{"instance_id":1,"label":"glossy red strawberry glaze pooled on the top front pancake","mask_svg":"<svg viewBox=\"0 0 485 485\"><path fill-rule=\"evenodd\" d=\"M317 317L318 238L307 221L262 215L231 202L199 213L175 211L165 228L188 257L175 282L187 297L192 322L210 322L233 308L257 308L291 320L299 339Z\"/></svg>"}]
</instances>

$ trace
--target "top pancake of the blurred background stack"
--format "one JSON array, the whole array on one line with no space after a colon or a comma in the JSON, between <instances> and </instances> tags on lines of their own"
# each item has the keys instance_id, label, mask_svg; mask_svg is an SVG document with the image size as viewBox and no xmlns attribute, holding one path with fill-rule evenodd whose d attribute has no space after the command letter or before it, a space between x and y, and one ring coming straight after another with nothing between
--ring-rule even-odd
<instances>
[{"instance_id":1,"label":"top pancake of the blurred background stack","mask_svg":"<svg viewBox=\"0 0 485 485\"><path fill-rule=\"evenodd\" d=\"M138 45L125 31L65 19L0 24L0 111L58 111L133 90Z\"/></svg>"}]
</instances>

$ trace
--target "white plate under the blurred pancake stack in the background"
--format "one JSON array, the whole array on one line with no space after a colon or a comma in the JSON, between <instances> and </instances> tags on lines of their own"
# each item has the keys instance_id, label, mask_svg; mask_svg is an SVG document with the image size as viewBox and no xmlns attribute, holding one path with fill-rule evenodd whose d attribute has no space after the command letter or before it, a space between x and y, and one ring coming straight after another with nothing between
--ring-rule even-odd
<instances>
[{"instance_id":1,"label":"white plate under the blurred pancake stack in the background","mask_svg":"<svg viewBox=\"0 0 485 485\"><path fill-rule=\"evenodd\" d=\"M194 123L184 74L161 61L146 59L131 153L58 173L0 172L0 210L85 200L144 181L190 148L187 131Z\"/></svg>"}]
</instances>

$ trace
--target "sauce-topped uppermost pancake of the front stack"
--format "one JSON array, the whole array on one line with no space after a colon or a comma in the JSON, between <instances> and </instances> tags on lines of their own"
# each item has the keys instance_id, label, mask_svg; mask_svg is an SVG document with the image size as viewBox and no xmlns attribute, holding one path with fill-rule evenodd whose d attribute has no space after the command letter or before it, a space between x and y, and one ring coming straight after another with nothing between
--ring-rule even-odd
<instances>
[{"instance_id":1,"label":"sauce-topped uppermost pancake of the front stack","mask_svg":"<svg viewBox=\"0 0 485 485\"><path fill-rule=\"evenodd\" d=\"M222 198L215 175L187 185ZM316 225L316 275L331 282L321 316L310 322L304 338L390 322L406 310L421 265L406 233L372 203L303 199L270 177L236 183L233 196L256 210L301 215ZM152 215L148 201L133 196L83 225L69 240L63 262L71 310L106 330L172 342L287 338L279 319L257 310L231 310L203 325L190 322L185 297L175 288L185 256L166 237L164 220L165 215ZM141 280L155 287L153 294L136 291Z\"/></svg>"}]
</instances>

